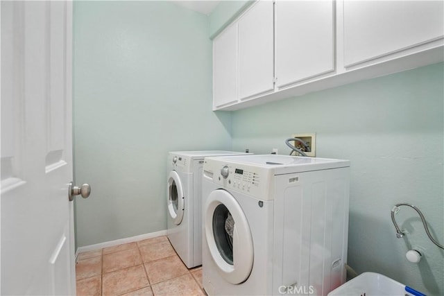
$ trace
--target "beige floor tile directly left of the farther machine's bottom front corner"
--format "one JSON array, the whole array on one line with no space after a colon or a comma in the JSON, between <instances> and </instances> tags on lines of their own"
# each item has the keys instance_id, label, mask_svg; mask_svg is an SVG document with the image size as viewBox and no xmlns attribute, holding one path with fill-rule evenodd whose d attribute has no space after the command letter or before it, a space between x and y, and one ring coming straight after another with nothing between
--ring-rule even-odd
<instances>
[{"instance_id":1,"label":"beige floor tile directly left of the farther machine's bottom front corner","mask_svg":"<svg viewBox=\"0 0 444 296\"><path fill-rule=\"evenodd\" d=\"M145 269L151 284L188 273L187 267L177 255L145 263Z\"/></svg>"}]
</instances>

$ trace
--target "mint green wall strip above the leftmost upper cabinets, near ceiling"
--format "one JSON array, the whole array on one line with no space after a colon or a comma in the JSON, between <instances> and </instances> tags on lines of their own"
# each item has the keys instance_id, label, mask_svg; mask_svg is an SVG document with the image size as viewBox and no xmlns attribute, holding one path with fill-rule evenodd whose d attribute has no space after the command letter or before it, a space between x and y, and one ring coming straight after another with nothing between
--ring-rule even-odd
<instances>
[{"instance_id":1,"label":"mint green wall strip above the leftmost upper cabinets, near ceiling","mask_svg":"<svg viewBox=\"0 0 444 296\"><path fill-rule=\"evenodd\" d=\"M219 34L223 28L228 26L233 19L254 2L254 0L219 2L210 14L210 37L213 38Z\"/></svg>"}]
</instances>

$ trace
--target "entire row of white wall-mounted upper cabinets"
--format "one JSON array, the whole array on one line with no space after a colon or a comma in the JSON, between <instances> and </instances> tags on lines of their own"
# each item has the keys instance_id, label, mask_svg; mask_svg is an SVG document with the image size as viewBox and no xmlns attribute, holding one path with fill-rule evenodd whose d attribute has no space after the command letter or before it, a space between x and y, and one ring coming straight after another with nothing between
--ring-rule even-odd
<instances>
[{"instance_id":1,"label":"entire row of white wall-mounted upper cabinets","mask_svg":"<svg viewBox=\"0 0 444 296\"><path fill-rule=\"evenodd\" d=\"M444 1L259 0L214 39L214 110L444 60Z\"/></svg>"}]
</instances>

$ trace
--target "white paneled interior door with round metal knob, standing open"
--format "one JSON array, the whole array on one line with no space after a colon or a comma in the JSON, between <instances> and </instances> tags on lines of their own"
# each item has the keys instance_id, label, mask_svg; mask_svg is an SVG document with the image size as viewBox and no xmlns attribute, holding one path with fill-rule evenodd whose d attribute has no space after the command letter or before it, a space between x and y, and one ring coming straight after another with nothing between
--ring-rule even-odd
<instances>
[{"instance_id":1,"label":"white paneled interior door with round metal knob, standing open","mask_svg":"<svg viewBox=\"0 0 444 296\"><path fill-rule=\"evenodd\" d=\"M69 1L1 1L1 295L75 295Z\"/></svg>"}]
</instances>

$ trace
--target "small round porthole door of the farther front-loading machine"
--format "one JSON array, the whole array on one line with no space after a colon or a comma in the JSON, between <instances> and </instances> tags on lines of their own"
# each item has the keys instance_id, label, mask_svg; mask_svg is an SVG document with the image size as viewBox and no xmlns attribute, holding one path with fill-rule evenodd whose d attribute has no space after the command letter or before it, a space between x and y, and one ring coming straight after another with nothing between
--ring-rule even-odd
<instances>
[{"instance_id":1,"label":"small round porthole door of the farther front-loading machine","mask_svg":"<svg viewBox=\"0 0 444 296\"><path fill-rule=\"evenodd\" d=\"M173 218L174 224L182 222L185 196L183 195L182 182L176 171L171 171L168 177L168 213Z\"/></svg>"}]
</instances>

